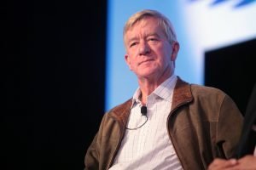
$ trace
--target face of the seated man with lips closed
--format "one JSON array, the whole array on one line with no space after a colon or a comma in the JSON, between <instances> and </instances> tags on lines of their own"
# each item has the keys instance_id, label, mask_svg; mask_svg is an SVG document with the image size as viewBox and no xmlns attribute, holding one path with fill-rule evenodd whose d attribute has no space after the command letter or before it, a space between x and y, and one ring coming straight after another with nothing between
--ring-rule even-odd
<instances>
[{"instance_id":1,"label":"face of the seated man with lips closed","mask_svg":"<svg viewBox=\"0 0 256 170\"><path fill-rule=\"evenodd\" d=\"M177 53L172 53L171 43L153 17L137 22L125 33L125 48L125 61L138 78L159 78L166 69L173 71Z\"/></svg>"}]
</instances>

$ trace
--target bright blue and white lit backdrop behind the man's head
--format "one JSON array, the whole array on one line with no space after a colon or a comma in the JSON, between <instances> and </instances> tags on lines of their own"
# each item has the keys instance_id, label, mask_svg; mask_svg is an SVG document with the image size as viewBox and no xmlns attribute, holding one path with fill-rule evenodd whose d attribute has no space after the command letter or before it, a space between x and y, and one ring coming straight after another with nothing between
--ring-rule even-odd
<instances>
[{"instance_id":1,"label":"bright blue and white lit backdrop behind the man's head","mask_svg":"<svg viewBox=\"0 0 256 170\"><path fill-rule=\"evenodd\" d=\"M256 3L236 8L241 1L108 0L106 103L108 111L130 99L137 77L125 64L123 26L131 14L145 8L159 10L171 21L180 42L176 75L192 83L204 83L207 50L256 37Z\"/></svg>"}]
</instances>

